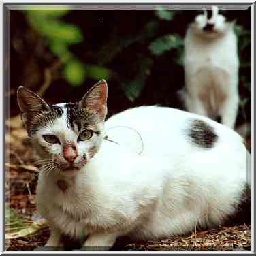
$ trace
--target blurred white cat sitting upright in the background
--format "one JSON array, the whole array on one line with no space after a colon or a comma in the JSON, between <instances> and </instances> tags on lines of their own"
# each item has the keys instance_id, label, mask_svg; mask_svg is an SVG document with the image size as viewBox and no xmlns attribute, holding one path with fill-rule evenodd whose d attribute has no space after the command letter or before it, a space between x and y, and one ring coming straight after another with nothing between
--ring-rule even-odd
<instances>
[{"instance_id":1,"label":"blurred white cat sitting upright in the background","mask_svg":"<svg viewBox=\"0 0 256 256\"><path fill-rule=\"evenodd\" d=\"M234 129L238 114L238 48L234 21L217 6L196 16L185 36L185 106L187 111Z\"/></svg>"}]
</instances>

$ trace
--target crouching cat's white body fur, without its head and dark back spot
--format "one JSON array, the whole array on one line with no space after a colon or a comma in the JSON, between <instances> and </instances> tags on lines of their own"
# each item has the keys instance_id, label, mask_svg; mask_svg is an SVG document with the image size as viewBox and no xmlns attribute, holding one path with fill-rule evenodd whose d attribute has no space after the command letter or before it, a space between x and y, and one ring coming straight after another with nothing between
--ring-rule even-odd
<instances>
[{"instance_id":1,"label":"crouching cat's white body fur, without its head and dark back spot","mask_svg":"<svg viewBox=\"0 0 256 256\"><path fill-rule=\"evenodd\" d=\"M218 135L213 148L187 138L193 119ZM116 133L114 130L116 126ZM140 133L129 133L127 126ZM112 128L113 127L113 128ZM84 246L112 246L119 236L157 239L212 227L234 213L246 182L246 148L235 132L203 116L172 108L140 107L106 121L110 142L74 176L57 187L59 172L39 174L37 208L52 226L46 246L60 246L61 233L89 237ZM128 133L127 133L128 134ZM130 142L133 142L131 145Z\"/></svg>"}]
</instances>

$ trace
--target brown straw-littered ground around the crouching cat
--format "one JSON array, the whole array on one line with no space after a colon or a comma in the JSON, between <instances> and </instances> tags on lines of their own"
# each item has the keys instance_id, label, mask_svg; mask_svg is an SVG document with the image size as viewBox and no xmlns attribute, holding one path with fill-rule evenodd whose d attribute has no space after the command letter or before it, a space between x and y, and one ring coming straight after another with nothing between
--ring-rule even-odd
<instances>
[{"instance_id":1,"label":"brown straw-littered ground around the crouching cat","mask_svg":"<svg viewBox=\"0 0 256 256\"><path fill-rule=\"evenodd\" d=\"M44 246L49 227L37 214L35 187L37 156L22 128L20 116L6 121L5 154L5 246L7 250L33 250ZM249 141L247 142L249 147ZM251 226L217 227L159 241L118 241L122 250L250 250Z\"/></svg>"}]
</instances>

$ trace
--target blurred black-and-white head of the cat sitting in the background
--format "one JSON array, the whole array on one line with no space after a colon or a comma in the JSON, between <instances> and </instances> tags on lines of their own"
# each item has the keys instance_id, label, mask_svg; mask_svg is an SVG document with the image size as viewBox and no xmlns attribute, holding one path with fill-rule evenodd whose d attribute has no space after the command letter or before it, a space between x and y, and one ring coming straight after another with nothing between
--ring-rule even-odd
<instances>
[{"instance_id":1,"label":"blurred black-and-white head of the cat sitting in the background","mask_svg":"<svg viewBox=\"0 0 256 256\"><path fill-rule=\"evenodd\" d=\"M191 23L191 29L207 38L217 38L225 35L234 26L234 20L230 20L226 10L219 10L216 5L204 10L199 10L195 20Z\"/></svg>"}]
</instances>

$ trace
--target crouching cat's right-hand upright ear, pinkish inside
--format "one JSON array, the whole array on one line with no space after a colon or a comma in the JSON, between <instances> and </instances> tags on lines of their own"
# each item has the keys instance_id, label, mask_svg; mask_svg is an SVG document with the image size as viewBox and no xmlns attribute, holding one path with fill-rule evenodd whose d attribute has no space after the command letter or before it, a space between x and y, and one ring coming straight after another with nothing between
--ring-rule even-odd
<instances>
[{"instance_id":1,"label":"crouching cat's right-hand upright ear, pinkish inside","mask_svg":"<svg viewBox=\"0 0 256 256\"><path fill-rule=\"evenodd\" d=\"M96 110L101 120L107 115L108 86L105 80L100 80L84 95L79 102L80 108Z\"/></svg>"}]
</instances>

